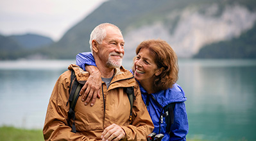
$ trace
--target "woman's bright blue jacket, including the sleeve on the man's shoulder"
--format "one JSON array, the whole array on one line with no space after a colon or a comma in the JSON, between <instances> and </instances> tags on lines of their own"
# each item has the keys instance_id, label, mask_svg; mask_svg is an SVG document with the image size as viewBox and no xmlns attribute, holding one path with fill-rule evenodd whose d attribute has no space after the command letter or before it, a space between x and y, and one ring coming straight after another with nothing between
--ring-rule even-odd
<instances>
[{"instance_id":1,"label":"woman's bright blue jacket, including the sleeve on the man's shoulder","mask_svg":"<svg viewBox=\"0 0 256 141\"><path fill-rule=\"evenodd\" d=\"M91 53L80 53L76 56L76 65L80 66L83 70L85 70L85 65L94 65L96 66L96 63L94 62L94 57ZM130 70L132 72L132 70ZM133 72L132 72L133 73ZM144 88L141 87L141 95L144 103L146 104L146 99L148 97L148 93ZM165 119L160 124L160 133L164 134L164 138L162 138L162 141L165 140L186 140L186 135L189 131L189 123L187 120L187 112L185 108L185 101L187 100L187 97L185 97L185 94L182 90L182 87L180 87L178 84L174 84L173 88L168 88L167 90L161 90L160 92L157 92L155 94L152 94L153 97L157 100L157 102L162 106L166 106L169 103L176 103L175 109L174 109L174 122L171 125L170 131L172 132L171 137L169 136L169 133L166 131L166 122ZM153 124L155 126L155 129L153 130L154 133L158 133L159 131L159 119L160 114L162 112L162 108L153 101L153 99L149 99L149 105L148 105L148 112L149 115L153 121Z\"/></svg>"}]
</instances>

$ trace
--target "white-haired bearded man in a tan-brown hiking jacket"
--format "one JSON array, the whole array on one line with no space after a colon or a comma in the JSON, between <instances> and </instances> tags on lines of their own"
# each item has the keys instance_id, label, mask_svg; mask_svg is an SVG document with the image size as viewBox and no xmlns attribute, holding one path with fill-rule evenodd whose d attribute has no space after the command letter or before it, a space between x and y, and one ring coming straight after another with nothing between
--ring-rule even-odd
<instances>
[{"instance_id":1,"label":"white-haired bearded man in a tan-brown hiking jacket","mask_svg":"<svg viewBox=\"0 0 256 141\"><path fill-rule=\"evenodd\" d=\"M45 140L146 140L153 123L141 98L138 83L129 70L121 66L124 54L123 35L113 24L100 24L90 35L90 49L101 74L101 97L94 106L84 104L81 96L74 108L76 133L69 126L69 86L71 70L79 83L89 72L69 65L55 84L44 124ZM89 81L89 80L88 80ZM130 101L124 88L132 87L135 95L130 123ZM71 121L73 121L71 119ZM73 121L74 122L74 121Z\"/></svg>"}]
</instances>

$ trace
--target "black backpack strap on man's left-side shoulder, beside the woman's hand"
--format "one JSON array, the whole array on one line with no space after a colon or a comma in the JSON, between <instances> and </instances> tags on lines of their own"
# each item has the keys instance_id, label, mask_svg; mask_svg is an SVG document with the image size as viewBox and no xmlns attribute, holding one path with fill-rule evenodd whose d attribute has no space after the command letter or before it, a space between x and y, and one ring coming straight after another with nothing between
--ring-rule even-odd
<instances>
[{"instance_id":1,"label":"black backpack strap on man's left-side shoulder, beside the woman's hand","mask_svg":"<svg viewBox=\"0 0 256 141\"><path fill-rule=\"evenodd\" d=\"M74 70L71 72L71 85L69 87L69 101L67 101L67 104L69 103L69 112L68 112L68 120L67 123L70 125L70 119L73 119L73 124L71 126L72 132L76 133L76 126L74 120L76 119L76 116L74 114L74 108L76 106L76 102L78 101L78 97L80 96L80 90L81 90L82 85L77 81L76 76L74 74Z\"/></svg>"}]
</instances>

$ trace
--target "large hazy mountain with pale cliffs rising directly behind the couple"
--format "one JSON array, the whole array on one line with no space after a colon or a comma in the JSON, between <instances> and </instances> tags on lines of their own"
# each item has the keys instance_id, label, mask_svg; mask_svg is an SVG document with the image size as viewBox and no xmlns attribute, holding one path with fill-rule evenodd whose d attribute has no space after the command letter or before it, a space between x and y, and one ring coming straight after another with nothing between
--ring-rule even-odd
<instances>
[{"instance_id":1,"label":"large hazy mountain with pale cliffs rising directly behind the couple","mask_svg":"<svg viewBox=\"0 0 256 141\"><path fill-rule=\"evenodd\" d=\"M246 0L112 0L107 1L65 33L54 46L59 58L90 51L92 29L103 22L119 26L126 41L124 58L151 38L166 40L177 55L191 58L201 47L239 37L256 21L256 4ZM67 53L68 52L68 53Z\"/></svg>"}]
</instances>

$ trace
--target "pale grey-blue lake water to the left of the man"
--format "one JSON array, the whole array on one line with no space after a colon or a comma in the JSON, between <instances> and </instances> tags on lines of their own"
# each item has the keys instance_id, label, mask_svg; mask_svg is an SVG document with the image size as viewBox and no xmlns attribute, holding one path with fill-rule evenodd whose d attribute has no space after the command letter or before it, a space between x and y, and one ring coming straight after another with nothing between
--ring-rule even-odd
<instances>
[{"instance_id":1,"label":"pale grey-blue lake water to the left of the man","mask_svg":"<svg viewBox=\"0 0 256 141\"><path fill-rule=\"evenodd\" d=\"M0 62L0 125L42 128L58 76L75 60Z\"/></svg>"}]
</instances>

